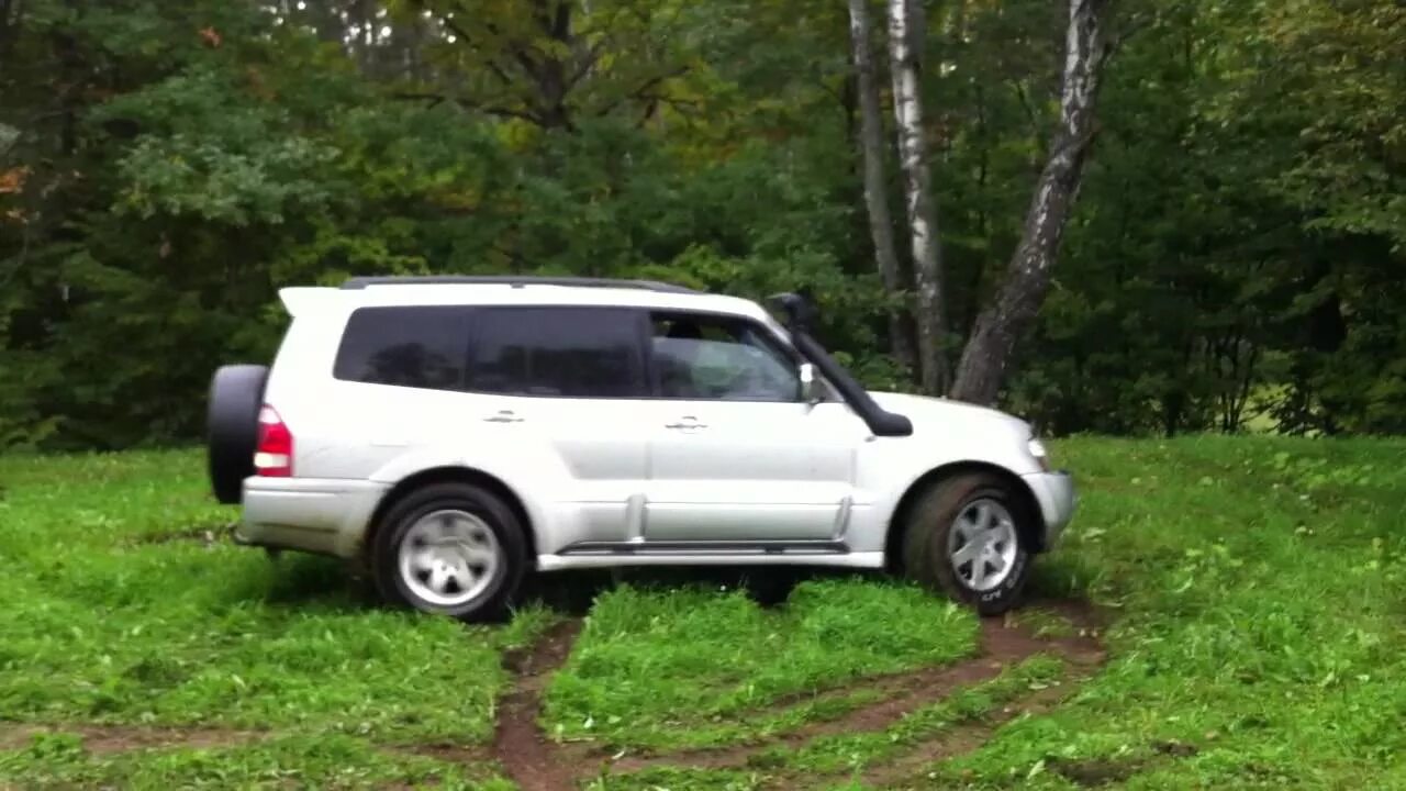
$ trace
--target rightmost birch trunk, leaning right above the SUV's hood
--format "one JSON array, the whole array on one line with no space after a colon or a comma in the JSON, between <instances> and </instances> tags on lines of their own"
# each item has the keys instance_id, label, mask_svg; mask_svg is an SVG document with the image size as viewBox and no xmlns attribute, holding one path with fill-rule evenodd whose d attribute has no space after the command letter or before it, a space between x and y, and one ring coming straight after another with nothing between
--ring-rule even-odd
<instances>
[{"instance_id":1,"label":"rightmost birch trunk, leaning right above the SUV's hood","mask_svg":"<svg viewBox=\"0 0 1406 791\"><path fill-rule=\"evenodd\" d=\"M953 398L974 404L995 401L1015 342L1029 328L1049 291L1050 269L1078 197L1085 155L1094 142L1094 103L1109 53L1104 30L1109 6L1111 0L1069 0L1060 124L1005 281L995 301L977 317L962 352Z\"/></svg>"}]
</instances>

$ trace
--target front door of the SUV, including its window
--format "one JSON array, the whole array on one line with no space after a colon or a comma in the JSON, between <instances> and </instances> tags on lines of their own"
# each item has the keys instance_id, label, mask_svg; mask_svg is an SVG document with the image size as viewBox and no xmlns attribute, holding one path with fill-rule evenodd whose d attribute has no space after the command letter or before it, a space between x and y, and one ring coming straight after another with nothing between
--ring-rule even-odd
<instances>
[{"instance_id":1,"label":"front door of the SUV, including its window","mask_svg":"<svg viewBox=\"0 0 1406 791\"><path fill-rule=\"evenodd\" d=\"M838 539L862 421L801 401L799 360L761 322L679 312L652 328L645 542Z\"/></svg>"}]
</instances>

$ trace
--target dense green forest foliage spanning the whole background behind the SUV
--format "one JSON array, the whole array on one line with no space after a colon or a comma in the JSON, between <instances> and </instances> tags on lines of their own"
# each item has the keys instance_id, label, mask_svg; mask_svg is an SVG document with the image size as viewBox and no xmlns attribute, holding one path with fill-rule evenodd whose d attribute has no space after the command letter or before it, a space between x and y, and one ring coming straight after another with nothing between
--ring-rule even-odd
<instances>
[{"instance_id":1,"label":"dense green forest foliage spanning the whole background behind the SUV","mask_svg":"<svg viewBox=\"0 0 1406 791\"><path fill-rule=\"evenodd\" d=\"M278 287L371 273L804 286L837 356L912 388L842 6L4 7L0 446L197 438L214 369L276 348ZM1005 405L1054 434L1406 431L1399 6L1119 14L1137 32ZM1039 0L929 13L953 353L1021 234L1060 24Z\"/></svg>"}]
</instances>

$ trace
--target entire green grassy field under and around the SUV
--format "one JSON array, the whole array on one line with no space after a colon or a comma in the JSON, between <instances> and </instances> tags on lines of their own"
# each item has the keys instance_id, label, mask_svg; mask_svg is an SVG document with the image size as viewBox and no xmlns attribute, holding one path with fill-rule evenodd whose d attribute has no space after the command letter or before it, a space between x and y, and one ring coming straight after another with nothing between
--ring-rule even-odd
<instances>
[{"instance_id":1,"label":"entire green grassy field under and around the SUV","mask_svg":"<svg viewBox=\"0 0 1406 791\"><path fill-rule=\"evenodd\" d=\"M1012 622L627 574L472 628L233 546L198 453L0 459L0 788L1406 788L1406 443L1054 452Z\"/></svg>"}]
</instances>

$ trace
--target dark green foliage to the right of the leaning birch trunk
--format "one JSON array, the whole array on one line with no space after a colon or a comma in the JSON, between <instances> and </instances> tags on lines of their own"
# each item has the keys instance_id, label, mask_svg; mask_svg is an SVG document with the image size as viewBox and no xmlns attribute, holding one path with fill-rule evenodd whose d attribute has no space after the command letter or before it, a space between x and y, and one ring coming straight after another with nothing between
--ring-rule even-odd
<instances>
[{"instance_id":1,"label":"dark green foliage to the right of the leaning birch trunk","mask_svg":"<svg viewBox=\"0 0 1406 791\"><path fill-rule=\"evenodd\" d=\"M1012 401L1057 431L1400 432L1406 17L1150 6Z\"/></svg>"}]
</instances>

